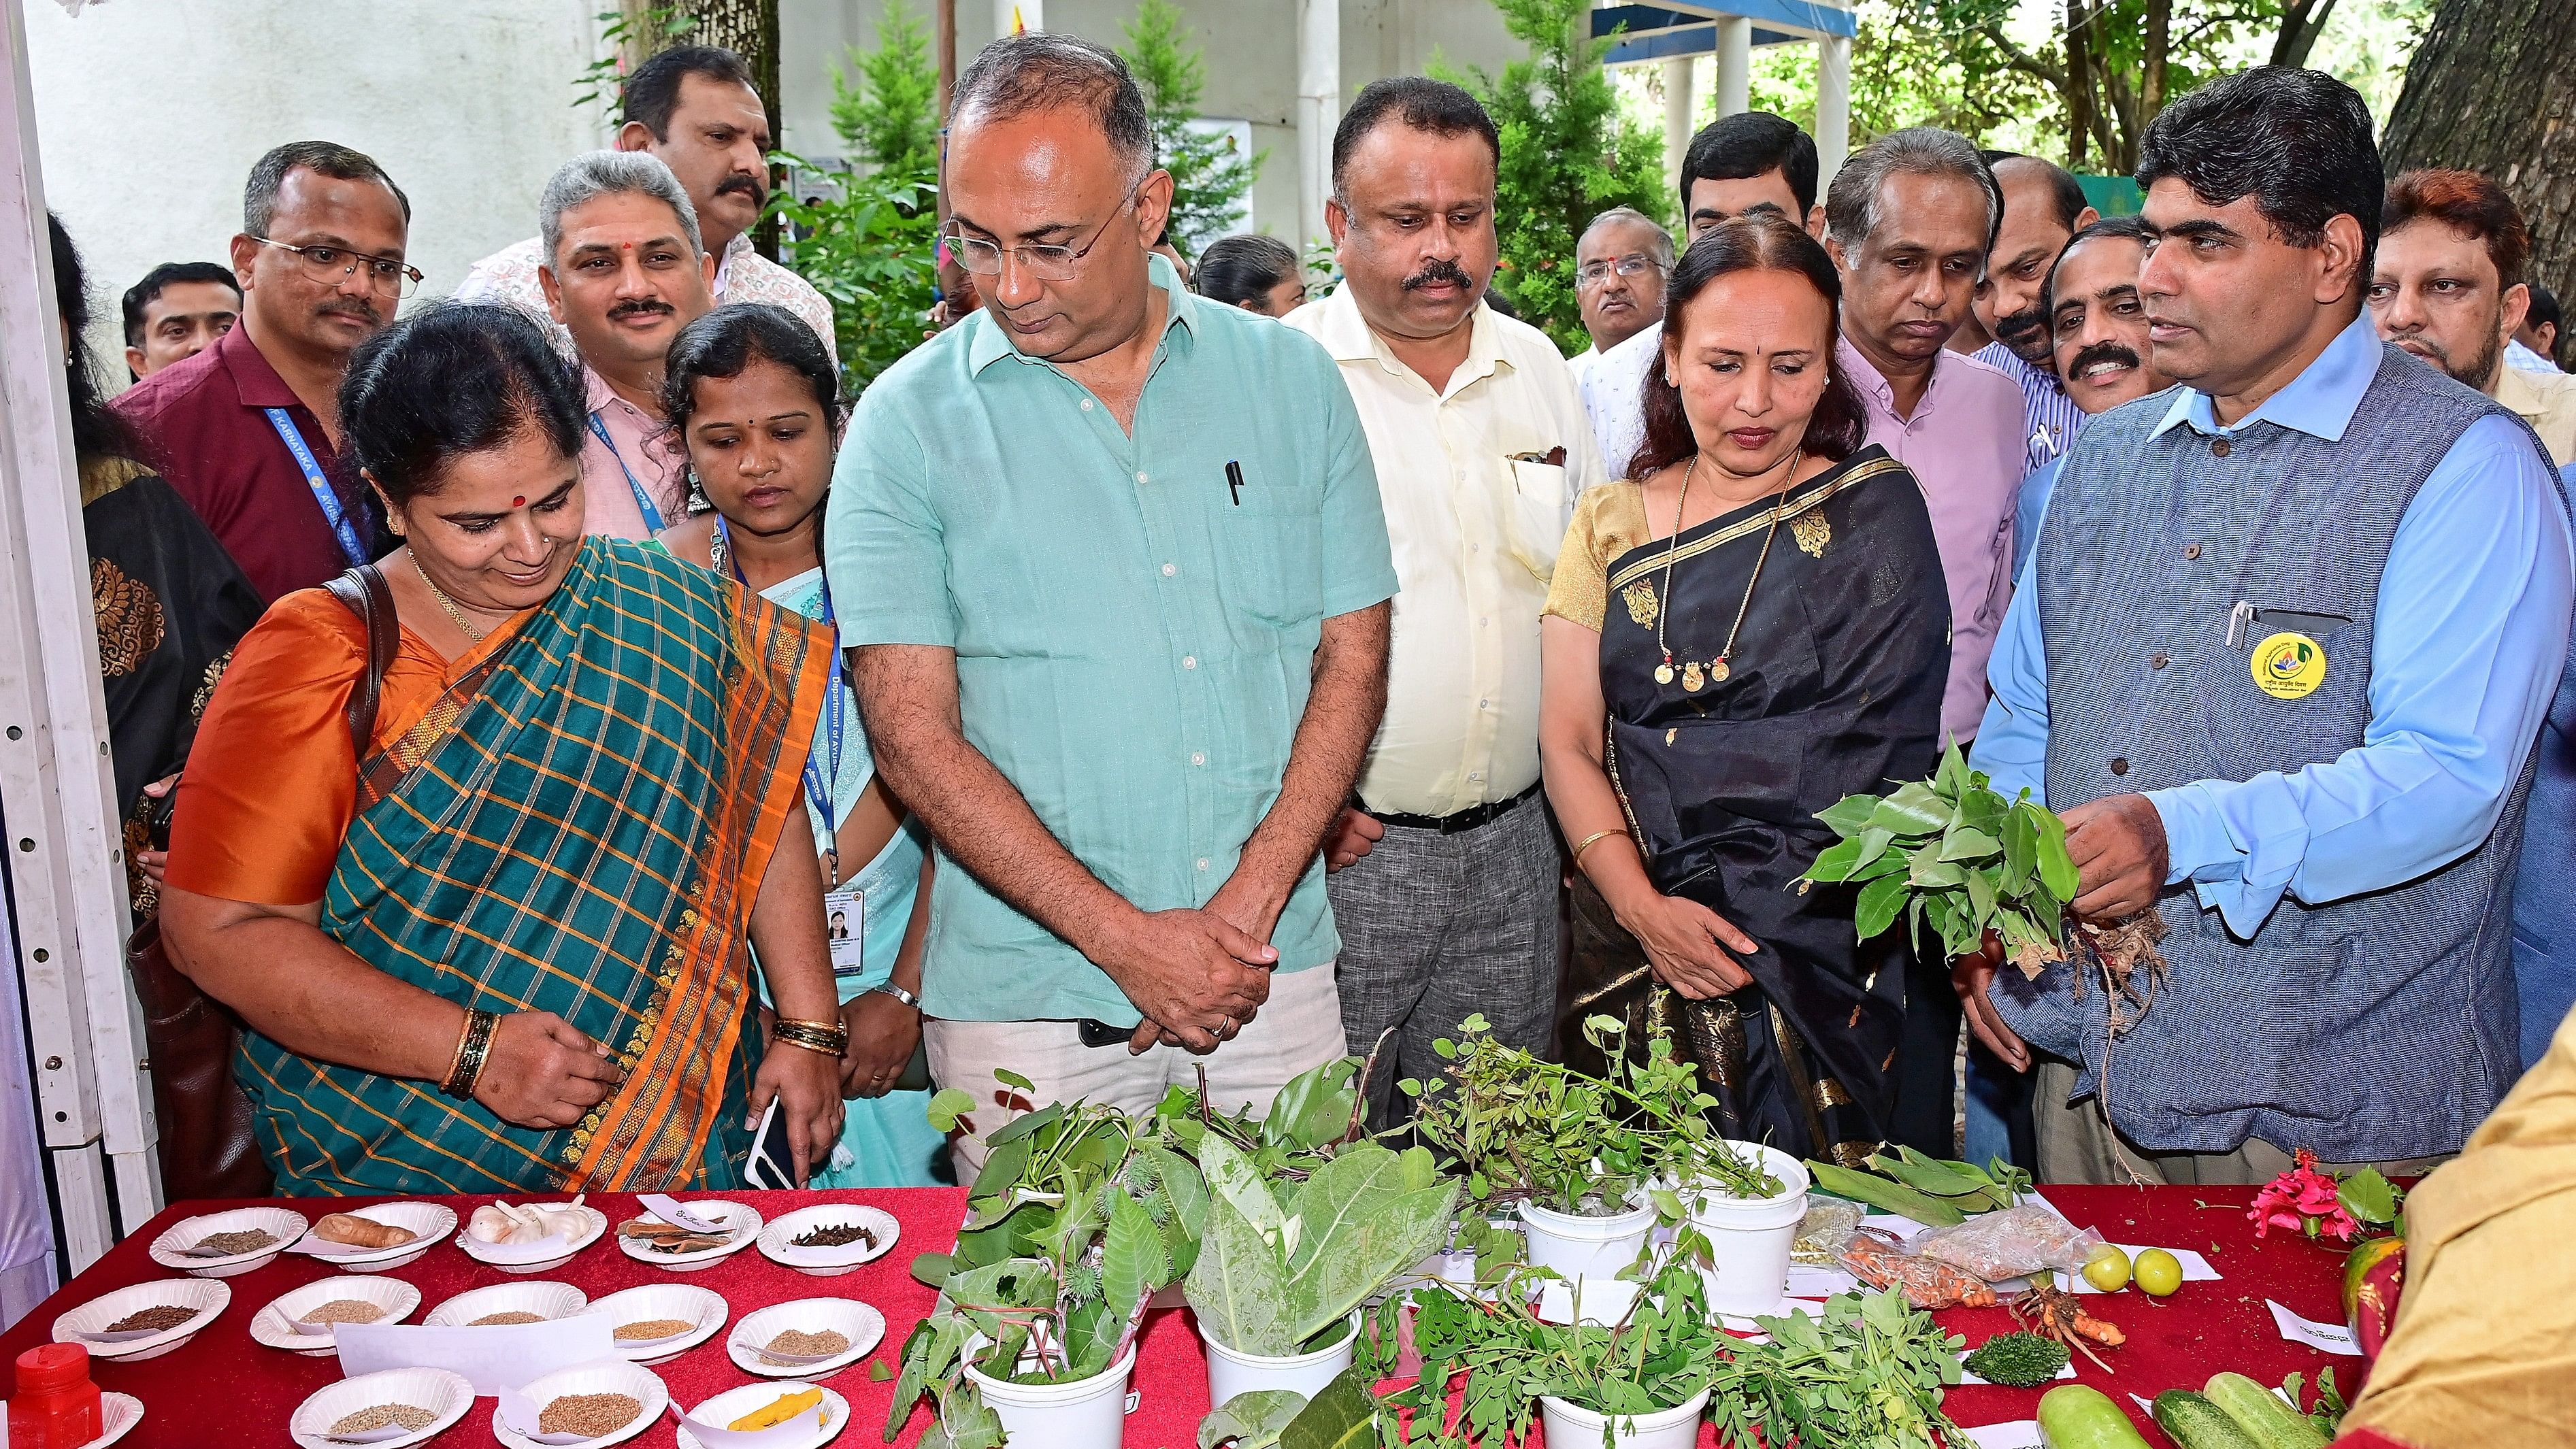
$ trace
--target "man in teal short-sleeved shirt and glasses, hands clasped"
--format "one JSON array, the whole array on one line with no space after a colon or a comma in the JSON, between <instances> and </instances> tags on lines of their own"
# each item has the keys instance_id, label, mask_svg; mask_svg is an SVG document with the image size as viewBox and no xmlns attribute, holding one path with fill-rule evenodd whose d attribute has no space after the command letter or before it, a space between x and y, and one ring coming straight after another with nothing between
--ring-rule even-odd
<instances>
[{"instance_id":1,"label":"man in teal short-sleeved shirt and glasses, hands clasped","mask_svg":"<svg viewBox=\"0 0 2576 1449\"><path fill-rule=\"evenodd\" d=\"M1172 178L1118 57L987 46L948 193L984 309L860 399L824 551L878 770L963 867L922 1011L974 1168L994 1068L1144 1109L1206 1066L1267 1109L1342 1055L1319 844L1396 574L1332 358L1149 255Z\"/></svg>"}]
</instances>

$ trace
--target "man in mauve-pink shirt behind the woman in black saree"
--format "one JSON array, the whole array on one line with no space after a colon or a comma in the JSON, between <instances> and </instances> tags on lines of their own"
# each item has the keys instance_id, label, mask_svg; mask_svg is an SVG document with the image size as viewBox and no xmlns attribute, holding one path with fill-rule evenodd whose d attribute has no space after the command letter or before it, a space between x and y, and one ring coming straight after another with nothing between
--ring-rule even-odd
<instances>
[{"instance_id":1,"label":"man in mauve-pink shirt behind the woman in black saree","mask_svg":"<svg viewBox=\"0 0 2576 1449\"><path fill-rule=\"evenodd\" d=\"M1963 746L1986 710L1986 656L2012 602L2012 507L2022 484L2022 389L1947 350L2004 219L2004 193L1965 136L1891 131L1842 162L1824 198L1842 268L1842 368L1870 412L1870 443L1914 471L1950 582L1942 734ZM1953 1156L1950 1060L1958 999L1947 963L1906 973L1888 1138Z\"/></svg>"}]
</instances>

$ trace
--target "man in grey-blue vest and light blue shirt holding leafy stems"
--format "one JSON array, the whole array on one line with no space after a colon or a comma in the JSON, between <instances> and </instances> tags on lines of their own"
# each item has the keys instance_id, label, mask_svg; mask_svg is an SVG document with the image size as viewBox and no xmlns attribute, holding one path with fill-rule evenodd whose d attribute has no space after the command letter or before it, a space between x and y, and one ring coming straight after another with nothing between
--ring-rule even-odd
<instances>
[{"instance_id":1,"label":"man in grey-blue vest and light blue shirt holding leafy stems","mask_svg":"<svg viewBox=\"0 0 2576 1449\"><path fill-rule=\"evenodd\" d=\"M1960 963L2038 1058L2040 1176L2421 1168L2519 1068L2512 883L2568 643L2568 515L2512 412L2362 317L2380 157L2352 88L2257 67L2138 162L2156 371L2066 456L1973 762L2066 816L2076 914L2166 965ZM2079 988L2081 986L2081 988ZM2025 1045L2027 1042L2027 1045Z\"/></svg>"}]
</instances>

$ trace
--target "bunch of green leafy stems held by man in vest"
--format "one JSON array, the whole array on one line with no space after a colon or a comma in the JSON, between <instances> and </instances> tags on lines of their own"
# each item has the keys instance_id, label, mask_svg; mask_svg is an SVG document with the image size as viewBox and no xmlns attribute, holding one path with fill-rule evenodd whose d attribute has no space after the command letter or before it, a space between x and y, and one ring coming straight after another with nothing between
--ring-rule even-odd
<instances>
[{"instance_id":1,"label":"bunch of green leafy stems held by man in vest","mask_svg":"<svg viewBox=\"0 0 2576 1449\"><path fill-rule=\"evenodd\" d=\"M1904 916L1917 945L1929 924L1953 957L1996 932L2030 975L2066 960L2066 906L2076 898L2066 821L2027 790L2017 800L1996 795L1955 741L1932 780L1844 795L1816 818L1839 842L1803 880L1860 883L1860 939Z\"/></svg>"}]
</instances>

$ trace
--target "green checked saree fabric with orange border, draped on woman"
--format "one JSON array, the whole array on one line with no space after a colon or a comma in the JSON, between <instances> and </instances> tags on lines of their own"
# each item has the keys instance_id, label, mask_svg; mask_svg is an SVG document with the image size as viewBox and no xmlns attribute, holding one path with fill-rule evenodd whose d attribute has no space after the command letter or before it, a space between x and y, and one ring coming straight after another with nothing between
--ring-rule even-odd
<instances>
[{"instance_id":1,"label":"green checked saree fabric with orange border, draped on woman","mask_svg":"<svg viewBox=\"0 0 2576 1449\"><path fill-rule=\"evenodd\" d=\"M564 587L363 762L322 929L484 1011L554 1011L626 1084L567 1130L242 1037L291 1194L726 1186L760 1035L747 921L829 636L636 543ZM799 836L801 839L801 836Z\"/></svg>"}]
</instances>

